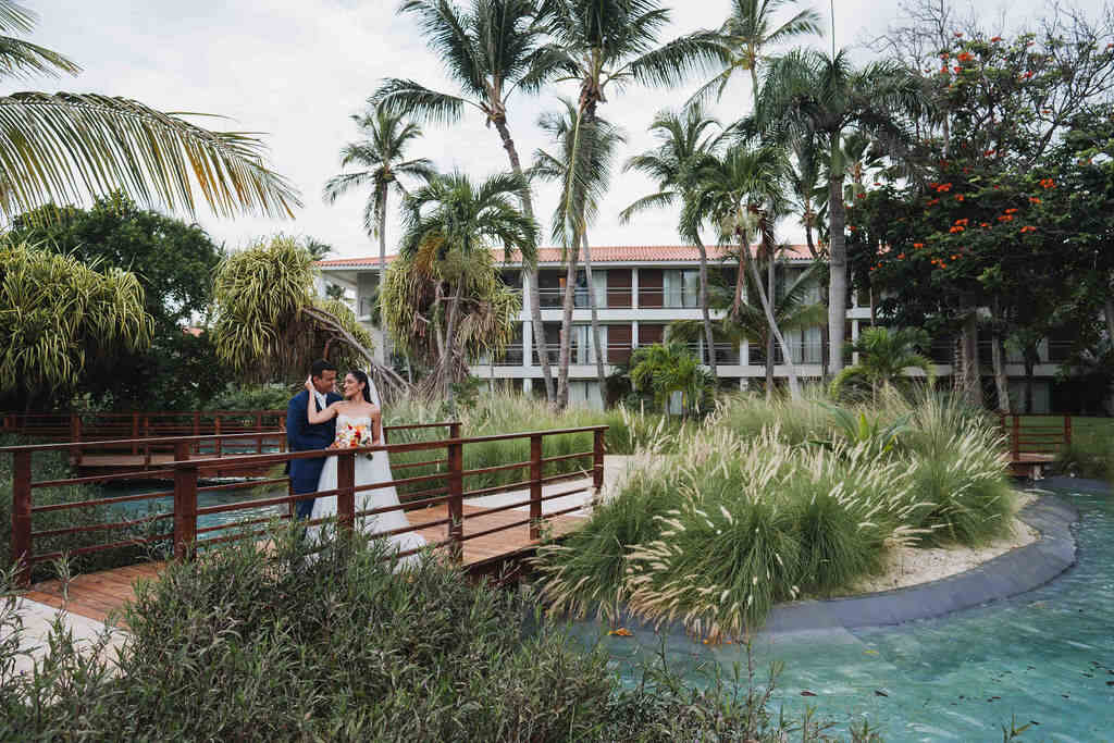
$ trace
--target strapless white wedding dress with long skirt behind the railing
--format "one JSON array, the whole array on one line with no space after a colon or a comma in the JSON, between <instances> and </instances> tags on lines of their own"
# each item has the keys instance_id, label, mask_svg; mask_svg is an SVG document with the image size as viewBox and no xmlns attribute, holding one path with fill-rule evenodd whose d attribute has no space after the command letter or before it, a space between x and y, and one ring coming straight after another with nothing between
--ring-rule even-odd
<instances>
[{"instance_id":1,"label":"strapless white wedding dress with long skirt behind the railing","mask_svg":"<svg viewBox=\"0 0 1114 743\"><path fill-rule=\"evenodd\" d=\"M336 427L346 424L371 427L371 419L367 416L351 418L344 413L336 416ZM391 462L385 451L377 451L373 459L368 459L364 454L355 456L355 485L371 485L373 482L390 482L394 477L391 475ZM325 466L321 470L321 479L317 480L317 490L334 490L336 488L336 457L325 460ZM394 486L364 490L355 493L356 512L371 510L373 508L384 508L387 506L398 506L399 493ZM317 498L313 501L311 519L330 518L336 516L336 496ZM394 529L405 529L410 526L410 520L402 509L375 514L374 516L358 516L356 527L364 534L375 535ZM321 535L320 526L311 526L306 530L306 536L311 544L317 541ZM391 550L407 553L411 549L420 549L426 546L426 538L417 531L404 531L387 537ZM408 555L400 563L414 563L420 555Z\"/></svg>"}]
</instances>

